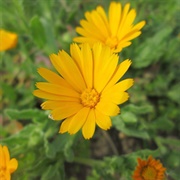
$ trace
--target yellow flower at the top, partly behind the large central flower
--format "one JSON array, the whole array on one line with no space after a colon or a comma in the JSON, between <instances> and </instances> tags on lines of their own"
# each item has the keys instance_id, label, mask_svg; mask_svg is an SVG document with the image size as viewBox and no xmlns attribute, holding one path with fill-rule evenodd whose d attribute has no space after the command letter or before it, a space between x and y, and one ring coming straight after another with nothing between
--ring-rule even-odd
<instances>
[{"instance_id":1,"label":"yellow flower at the top, partly behind the large central flower","mask_svg":"<svg viewBox=\"0 0 180 180\"><path fill-rule=\"evenodd\" d=\"M131 9L130 4L126 4L122 9L118 2L111 2L109 6L108 17L101 6L92 12L86 12L86 20L81 20L76 32L80 37L73 40L78 43L101 42L111 47L114 52L120 52L123 48L131 44L131 40L141 34L141 29L145 25L145 21L141 21L136 25L133 22L136 17L136 11Z\"/></svg>"}]
</instances>

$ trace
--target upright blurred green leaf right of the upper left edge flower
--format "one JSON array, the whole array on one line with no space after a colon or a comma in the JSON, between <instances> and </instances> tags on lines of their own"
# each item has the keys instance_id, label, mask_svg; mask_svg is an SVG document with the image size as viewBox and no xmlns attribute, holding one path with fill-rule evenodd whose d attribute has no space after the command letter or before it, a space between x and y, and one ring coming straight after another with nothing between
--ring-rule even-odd
<instances>
[{"instance_id":1,"label":"upright blurred green leaf right of the upper left edge flower","mask_svg":"<svg viewBox=\"0 0 180 180\"><path fill-rule=\"evenodd\" d=\"M45 30L37 15L35 15L30 21L30 31L37 46L43 48L46 45Z\"/></svg>"}]
</instances>

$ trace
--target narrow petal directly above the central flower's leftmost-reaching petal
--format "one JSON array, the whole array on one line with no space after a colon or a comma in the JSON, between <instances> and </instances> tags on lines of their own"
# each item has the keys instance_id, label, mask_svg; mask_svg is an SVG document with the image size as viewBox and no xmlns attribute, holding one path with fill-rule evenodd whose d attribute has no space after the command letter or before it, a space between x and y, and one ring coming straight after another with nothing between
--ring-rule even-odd
<instances>
[{"instance_id":1,"label":"narrow petal directly above the central flower's leftmost-reaching petal","mask_svg":"<svg viewBox=\"0 0 180 180\"><path fill-rule=\"evenodd\" d=\"M36 83L36 87L39 88L42 91L56 94L60 96L69 96L69 97L79 97L79 93L74 91L73 89L57 85L57 84L50 84L46 82L38 82Z\"/></svg>"}]
</instances>

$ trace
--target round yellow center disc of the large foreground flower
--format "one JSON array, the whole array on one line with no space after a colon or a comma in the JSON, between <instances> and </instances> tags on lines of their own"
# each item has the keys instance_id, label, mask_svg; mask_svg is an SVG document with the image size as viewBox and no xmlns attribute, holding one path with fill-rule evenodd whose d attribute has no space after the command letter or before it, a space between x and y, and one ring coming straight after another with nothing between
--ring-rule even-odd
<instances>
[{"instance_id":1,"label":"round yellow center disc of the large foreground flower","mask_svg":"<svg viewBox=\"0 0 180 180\"><path fill-rule=\"evenodd\" d=\"M81 94L81 103L90 108L94 108L99 102L99 94L95 89L87 88Z\"/></svg>"}]
</instances>

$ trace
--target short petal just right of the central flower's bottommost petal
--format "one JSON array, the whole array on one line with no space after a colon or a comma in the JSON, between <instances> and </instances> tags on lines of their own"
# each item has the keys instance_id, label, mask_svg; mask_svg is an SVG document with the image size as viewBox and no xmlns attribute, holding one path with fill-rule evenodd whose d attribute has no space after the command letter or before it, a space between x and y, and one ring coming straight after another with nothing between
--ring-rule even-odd
<instances>
[{"instance_id":1,"label":"short petal just right of the central flower's bottommost petal","mask_svg":"<svg viewBox=\"0 0 180 180\"><path fill-rule=\"evenodd\" d=\"M104 130L110 129L110 127L112 126L112 122L109 116L102 114L97 109L95 110L95 116L96 123L100 128Z\"/></svg>"}]
</instances>

